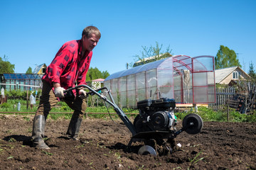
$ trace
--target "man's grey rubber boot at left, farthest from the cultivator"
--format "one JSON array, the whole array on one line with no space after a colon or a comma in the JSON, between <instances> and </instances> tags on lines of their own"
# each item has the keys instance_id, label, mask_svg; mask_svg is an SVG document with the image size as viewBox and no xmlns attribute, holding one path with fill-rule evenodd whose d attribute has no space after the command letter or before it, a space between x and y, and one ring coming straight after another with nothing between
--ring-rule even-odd
<instances>
[{"instance_id":1,"label":"man's grey rubber boot at left, farthest from the cultivator","mask_svg":"<svg viewBox=\"0 0 256 170\"><path fill-rule=\"evenodd\" d=\"M32 141L33 147L38 149L50 149L43 141L46 127L46 118L44 115L36 115L33 120Z\"/></svg>"}]
</instances>

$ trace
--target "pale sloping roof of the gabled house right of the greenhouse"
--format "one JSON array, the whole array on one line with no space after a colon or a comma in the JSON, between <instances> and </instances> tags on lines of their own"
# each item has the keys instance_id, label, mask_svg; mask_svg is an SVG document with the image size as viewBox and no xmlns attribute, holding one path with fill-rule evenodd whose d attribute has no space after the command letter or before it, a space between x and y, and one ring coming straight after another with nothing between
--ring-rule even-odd
<instances>
[{"instance_id":1,"label":"pale sloping roof of the gabled house right of the greenhouse","mask_svg":"<svg viewBox=\"0 0 256 170\"><path fill-rule=\"evenodd\" d=\"M235 66L235 67L227 67L224 69L215 69L215 83L220 83L221 81L223 81L223 79L225 79L226 77L228 77L228 75L230 75L232 72L235 71L235 69L240 69L241 72L243 72L245 75L247 75L248 77L250 77L246 72L244 72L240 67Z\"/></svg>"}]
</instances>

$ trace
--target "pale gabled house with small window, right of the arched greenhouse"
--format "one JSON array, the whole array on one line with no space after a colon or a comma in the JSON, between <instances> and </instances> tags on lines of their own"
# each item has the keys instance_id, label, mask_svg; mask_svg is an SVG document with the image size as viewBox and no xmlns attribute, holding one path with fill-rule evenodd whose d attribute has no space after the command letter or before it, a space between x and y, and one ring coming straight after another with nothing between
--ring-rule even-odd
<instances>
[{"instance_id":1,"label":"pale gabled house with small window, right of the arched greenhouse","mask_svg":"<svg viewBox=\"0 0 256 170\"><path fill-rule=\"evenodd\" d=\"M238 79L250 79L250 76L240 67L228 67L224 69L215 69L216 84L234 84Z\"/></svg>"}]
</instances>

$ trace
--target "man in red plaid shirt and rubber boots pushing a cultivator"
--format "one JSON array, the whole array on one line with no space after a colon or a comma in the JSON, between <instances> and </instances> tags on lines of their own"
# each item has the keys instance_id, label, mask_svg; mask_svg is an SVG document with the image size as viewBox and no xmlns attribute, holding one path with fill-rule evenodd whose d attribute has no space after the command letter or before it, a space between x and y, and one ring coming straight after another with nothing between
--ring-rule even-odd
<instances>
[{"instance_id":1,"label":"man in red plaid shirt and rubber boots pushing a cultivator","mask_svg":"<svg viewBox=\"0 0 256 170\"><path fill-rule=\"evenodd\" d=\"M86 84L86 74L90 67L92 49L100 40L101 34L94 26L88 26L82 31L81 40L65 42L55 55L53 62L47 67L46 74L43 75L43 89L40 103L33 120L32 140L33 147L39 149L50 149L43 141L46 127L46 118L51 108L60 99L65 101L74 110L67 135L71 139L77 140L78 132L86 109L83 89L76 91L69 96L64 96L65 89Z\"/></svg>"}]
</instances>

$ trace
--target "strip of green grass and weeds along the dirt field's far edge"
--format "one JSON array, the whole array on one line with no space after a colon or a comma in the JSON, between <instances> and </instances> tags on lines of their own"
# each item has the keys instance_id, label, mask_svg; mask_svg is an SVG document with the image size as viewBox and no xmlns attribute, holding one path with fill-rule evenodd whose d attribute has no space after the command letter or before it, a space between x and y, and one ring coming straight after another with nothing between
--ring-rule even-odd
<instances>
[{"instance_id":1,"label":"strip of green grass and weeds along the dirt field's far edge","mask_svg":"<svg viewBox=\"0 0 256 170\"><path fill-rule=\"evenodd\" d=\"M8 100L7 103L3 103L0 105L0 112L17 112L17 105L18 102L21 102L21 112L32 112L36 113L36 109L38 106L38 101L36 101L36 106L33 106L31 109L28 107L27 110L27 103L23 100L13 99ZM127 109L123 108L124 113L139 113L137 110ZM63 114L63 113L73 113L73 110L68 107L68 105L65 102L58 102L55 108L53 108L50 112L55 112L54 114L49 114L48 118L52 118L53 120L56 120L58 118L65 118L70 119L72 114ZM98 106L98 107L87 107L87 113L115 113L114 109L112 107L106 108L105 106ZM188 115L188 113L194 113L194 111L188 111L188 112L181 112L181 113L175 113L176 117L180 120L183 120L183 118ZM26 115L26 114L25 114ZM225 122L227 121L227 111L226 110L220 110L220 111L213 111L210 108L206 107L198 107L198 115L201 116L203 121L218 121L218 122ZM88 114L87 115L90 118L101 118L108 120L110 119L110 115L108 114ZM135 117L136 115L129 115L127 114L128 118ZM119 116L117 114L111 115L112 119L116 120L119 119ZM240 114L234 109L230 109L230 122L256 122L256 114ZM25 118L26 119L26 118Z\"/></svg>"}]
</instances>

